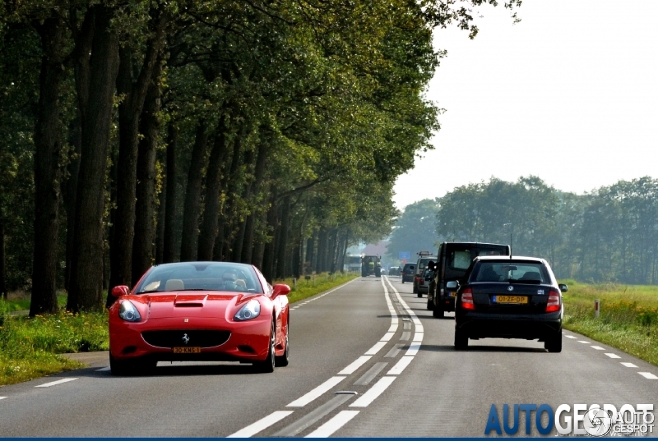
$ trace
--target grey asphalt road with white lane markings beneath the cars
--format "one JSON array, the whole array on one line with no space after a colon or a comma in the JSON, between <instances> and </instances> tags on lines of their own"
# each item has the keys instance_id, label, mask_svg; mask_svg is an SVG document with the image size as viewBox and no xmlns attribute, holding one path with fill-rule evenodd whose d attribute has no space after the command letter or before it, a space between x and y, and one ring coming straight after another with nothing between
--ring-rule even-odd
<instances>
[{"instance_id":1,"label":"grey asphalt road with white lane markings beneath the cars","mask_svg":"<svg viewBox=\"0 0 658 441\"><path fill-rule=\"evenodd\" d=\"M411 284L386 279L293 305L290 365L272 374L159 363L112 377L95 355L93 367L0 388L0 436L484 436L492 404L501 419L503 404L658 409L653 365L569 331L560 354L503 339L457 352L452 314L434 319Z\"/></svg>"}]
</instances>

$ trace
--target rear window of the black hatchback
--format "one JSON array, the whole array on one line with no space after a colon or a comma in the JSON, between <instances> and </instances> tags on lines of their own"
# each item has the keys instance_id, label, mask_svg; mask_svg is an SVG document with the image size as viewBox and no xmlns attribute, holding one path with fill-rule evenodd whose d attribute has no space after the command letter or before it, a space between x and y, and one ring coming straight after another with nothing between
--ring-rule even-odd
<instances>
[{"instance_id":1,"label":"rear window of the black hatchback","mask_svg":"<svg viewBox=\"0 0 658 441\"><path fill-rule=\"evenodd\" d=\"M470 281L550 283L544 265L525 262L480 262L473 268Z\"/></svg>"}]
</instances>

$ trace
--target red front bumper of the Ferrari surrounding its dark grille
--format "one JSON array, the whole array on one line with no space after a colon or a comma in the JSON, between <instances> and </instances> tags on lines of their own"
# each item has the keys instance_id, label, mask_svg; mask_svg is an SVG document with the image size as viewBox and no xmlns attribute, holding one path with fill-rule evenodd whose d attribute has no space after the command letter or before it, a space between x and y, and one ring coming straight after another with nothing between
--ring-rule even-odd
<instances>
[{"instance_id":1,"label":"red front bumper of the Ferrari surrounding its dark grille","mask_svg":"<svg viewBox=\"0 0 658 441\"><path fill-rule=\"evenodd\" d=\"M148 319L131 323L118 317L110 321L110 352L115 360L148 358L156 361L262 361L268 355L272 317L257 317L249 321L226 321L212 318L190 318L185 323L180 317ZM190 338L186 344L186 331L197 334L203 331L228 331L230 336L217 346L201 347L199 353L174 354L170 347L153 346L145 341L142 333L147 331L176 331L180 333L180 344L176 347L199 347ZM151 340L149 340L151 341ZM198 340L197 340L198 341Z\"/></svg>"}]
</instances>

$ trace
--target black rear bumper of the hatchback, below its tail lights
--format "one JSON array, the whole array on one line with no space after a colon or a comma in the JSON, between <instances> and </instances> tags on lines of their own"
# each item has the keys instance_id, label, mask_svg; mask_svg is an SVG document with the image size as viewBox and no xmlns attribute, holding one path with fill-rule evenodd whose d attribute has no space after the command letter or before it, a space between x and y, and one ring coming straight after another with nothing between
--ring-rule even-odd
<instances>
[{"instance_id":1,"label":"black rear bumper of the hatchback, below its tail lights","mask_svg":"<svg viewBox=\"0 0 658 441\"><path fill-rule=\"evenodd\" d=\"M468 338L526 338L546 340L561 332L561 313L547 314L492 314L458 313L455 327Z\"/></svg>"}]
</instances>

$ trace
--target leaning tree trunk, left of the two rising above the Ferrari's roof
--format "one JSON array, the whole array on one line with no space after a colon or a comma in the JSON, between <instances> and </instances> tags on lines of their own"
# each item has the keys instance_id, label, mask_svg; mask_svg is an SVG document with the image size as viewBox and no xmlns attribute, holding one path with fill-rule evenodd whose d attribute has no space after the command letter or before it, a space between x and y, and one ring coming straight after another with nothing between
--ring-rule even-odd
<instances>
[{"instance_id":1,"label":"leaning tree trunk, left of the two rising above the Ferrari's roof","mask_svg":"<svg viewBox=\"0 0 658 441\"><path fill-rule=\"evenodd\" d=\"M197 242L199 241L199 209L201 205L201 183L208 144L207 124L199 122L192 149L188 185L185 192L183 209L183 235L180 242L180 260L190 262L197 260Z\"/></svg>"}]
</instances>

